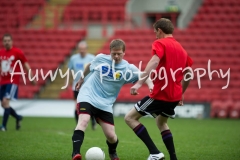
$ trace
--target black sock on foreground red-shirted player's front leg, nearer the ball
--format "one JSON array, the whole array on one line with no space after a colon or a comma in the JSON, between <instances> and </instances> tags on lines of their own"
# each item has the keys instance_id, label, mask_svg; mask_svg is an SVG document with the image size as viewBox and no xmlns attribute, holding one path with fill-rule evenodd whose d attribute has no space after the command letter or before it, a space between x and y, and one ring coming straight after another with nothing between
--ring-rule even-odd
<instances>
[{"instance_id":1,"label":"black sock on foreground red-shirted player's front leg, nearer the ball","mask_svg":"<svg viewBox=\"0 0 240 160\"><path fill-rule=\"evenodd\" d=\"M160 151L157 149L152 139L150 138L147 129L141 123L136 126L133 131L145 143L150 154L158 154Z\"/></svg>"}]
</instances>

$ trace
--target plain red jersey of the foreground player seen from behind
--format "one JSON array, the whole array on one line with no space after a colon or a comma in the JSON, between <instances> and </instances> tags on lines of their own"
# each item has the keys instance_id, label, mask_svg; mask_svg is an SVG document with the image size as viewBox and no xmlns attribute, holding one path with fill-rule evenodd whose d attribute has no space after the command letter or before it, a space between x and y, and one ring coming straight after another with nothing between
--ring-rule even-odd
<instances>
[{"instance_id":1,"label":"plain red jersey of the foreground player seen from behind","mask_svg":"<svg viewBox=\"0 0 240 160\"><path fill-rule=\"evenodd\" d=\"M158 39L152 44L152 55L157 55L160 58L160 62L156 68L158 77L153 81L154 88L149 97L157 100L164 100L168 102L175 102L182 99L182 79L183 70L185 67L190 67L193 64L192 59L187 55L187 52L183 49L180 43L178 43L173 37ZM163 67L159 75L160 68ZM172 71L182 68L175 72L175 82L172 78ZM160 79L162 77L162 80ZM167 79L166 79L167 78ZM164 85L167 86L161 90Z\"/></svg>"}]
</instances>

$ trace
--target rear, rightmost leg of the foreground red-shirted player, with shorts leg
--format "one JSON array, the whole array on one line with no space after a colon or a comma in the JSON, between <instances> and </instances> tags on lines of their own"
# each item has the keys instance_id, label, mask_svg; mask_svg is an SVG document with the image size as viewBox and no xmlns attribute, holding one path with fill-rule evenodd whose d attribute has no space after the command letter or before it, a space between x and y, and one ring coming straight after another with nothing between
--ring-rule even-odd
<instances>
[{"instance_id":1,"label":"rear, rightmost leg of the foreground red-shirted player, with shorts leg","mask_svg":"<svg viewBox=\"0 0 240 160\"><path fill-rule=\"evenodd\" d=\"M163 112L156 117L156 123L157 123L158 129L161 132L162 140L169 152L171 160L177 160L177 156L175 152L173 136L168 127L167 121L169 117L172 117L175 114L174 108L177 104L178 102L166 103L166 106L164 107L165 109L163 110Z\"/></svg>"}]
</instances>

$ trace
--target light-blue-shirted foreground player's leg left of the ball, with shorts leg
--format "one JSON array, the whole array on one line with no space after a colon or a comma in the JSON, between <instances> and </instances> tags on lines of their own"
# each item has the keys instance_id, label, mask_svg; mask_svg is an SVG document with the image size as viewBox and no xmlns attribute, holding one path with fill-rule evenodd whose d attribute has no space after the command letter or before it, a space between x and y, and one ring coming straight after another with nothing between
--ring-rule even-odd
<instances>
[{"instance_id":1,"label":"light-blue-shirted foreground player's leg left of the ball, with shorts leg","mask_svg":"<svg viewBox=\"0 0 240 160\"><path fill-rule=\"evenodd\" d=\"M87 128L88 122L90 120L92 105L87 102L81 102L78 104L78 123L73 132L72 143L72 159L81 160L82 156L80 154L80 149L84 140L84 132Z\"/></svg>"}]
</instances>

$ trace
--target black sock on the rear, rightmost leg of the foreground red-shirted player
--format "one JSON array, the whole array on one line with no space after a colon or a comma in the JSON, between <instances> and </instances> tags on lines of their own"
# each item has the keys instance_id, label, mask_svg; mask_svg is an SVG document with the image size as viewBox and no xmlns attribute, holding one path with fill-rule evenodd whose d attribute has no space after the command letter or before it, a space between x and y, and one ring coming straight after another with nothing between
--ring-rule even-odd
<instances>
[{"instance_id":1,"label":"black sock on the rear, rightmost leg of the foreground red-shirted player","mask_svg":"<svg viewBox=\"0 0 240 160\"><path fill-rule=\"evenodd\" d=\"M165 130L165 131L162 131L161 134L162 134L163 142L169 152L170 159L177 160L171 131Z\"/></svg>"}]
</instances>

